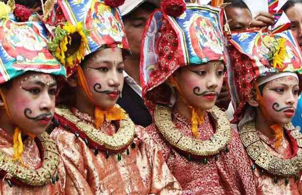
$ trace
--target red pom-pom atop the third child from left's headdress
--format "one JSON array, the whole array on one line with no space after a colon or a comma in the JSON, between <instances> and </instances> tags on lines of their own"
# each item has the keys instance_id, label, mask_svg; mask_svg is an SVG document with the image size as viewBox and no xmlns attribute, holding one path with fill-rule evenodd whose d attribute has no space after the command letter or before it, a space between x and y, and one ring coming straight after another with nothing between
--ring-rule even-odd
<instances>
[{"instance_id":1,"label":"red pom-pom atop the third child from left's headdress","mask_svg":"<svg viewBox=\"0 0 302 195\"><path fill-rule=\"evenodd\" d=\"M184 0L163 0L161 8L168 16L179 17L186 11L186 3Z\"/></svg>"}]
</instances>

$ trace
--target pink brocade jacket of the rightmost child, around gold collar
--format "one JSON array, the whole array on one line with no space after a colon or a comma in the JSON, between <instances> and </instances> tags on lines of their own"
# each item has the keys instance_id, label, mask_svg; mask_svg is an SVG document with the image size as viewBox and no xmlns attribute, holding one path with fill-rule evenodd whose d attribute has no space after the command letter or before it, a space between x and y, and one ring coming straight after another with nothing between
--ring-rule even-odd
<instances>
[{"instance_id":1,"label":"pink brocade jacket of the rightmost child, around gold collar","mask_svg":"<svg viewBox=\"0 0 302 195\"><path fill-rule=\"evenodd\" d=\"M266 137L261 132L258 135L262 142L264 143L265 149L271 152L273 155L281 157L283 159L288 159L293 156L293 149L290 140L284 136L280 148L275 148L274 140L272 138ZM250 159L250 165L253 161ZM267 173L262 174L261 169L255 166L254 180L257 187L257 195L302 195L302 173L299 173L298 181L295 180L295 176L290 176L288 178L288 184L285 184L285 177L278 176L277 184L274 184L274 179L272 175Z\"/></svg>"}]
</instances>

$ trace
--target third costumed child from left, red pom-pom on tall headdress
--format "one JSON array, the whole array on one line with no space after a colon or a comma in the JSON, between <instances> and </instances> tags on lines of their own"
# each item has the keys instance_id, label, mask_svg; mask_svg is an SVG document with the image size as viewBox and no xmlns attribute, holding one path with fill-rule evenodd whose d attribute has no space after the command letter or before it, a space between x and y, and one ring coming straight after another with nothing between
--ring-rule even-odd
<instances>
[{"instance_id":1,"label":"third costumed child from left, red pom-pom on tall headdress","mask_svg":"<svg viewBox=\"0 0 302 195\"><path fill-rule=\"evenodd\" d=\"M143 34L143 98L153 115L146 130L188 195L256 193L239 135L214 106L226 67L222 13L163 1Z\"/></svg>"}]
</instances>

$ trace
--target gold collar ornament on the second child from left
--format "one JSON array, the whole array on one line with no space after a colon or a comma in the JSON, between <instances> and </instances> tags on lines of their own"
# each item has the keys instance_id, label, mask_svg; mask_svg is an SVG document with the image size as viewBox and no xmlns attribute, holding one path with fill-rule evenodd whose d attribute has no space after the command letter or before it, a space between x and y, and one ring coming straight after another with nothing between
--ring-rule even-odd
<instances>
[{"instance_id":1,"label":"gold collar ornament on the second child from left","mask_svg":"<svg viewBox=\"0 0 302 195\"><path fill-rule=\"evenodd\" d=\"M96 152L98 150L105 151L106 155L108 151L121 152L132 143L134 138L135 125L128 115L125 119L119 120L119 129L113 136L102 133L94 128L93 124L76 117L67 108L56 108L55 118L66 130L74 133L76 137L81 137L90 148L94 148L94 154L98 153Z\"/></svg>"}]
</instances>

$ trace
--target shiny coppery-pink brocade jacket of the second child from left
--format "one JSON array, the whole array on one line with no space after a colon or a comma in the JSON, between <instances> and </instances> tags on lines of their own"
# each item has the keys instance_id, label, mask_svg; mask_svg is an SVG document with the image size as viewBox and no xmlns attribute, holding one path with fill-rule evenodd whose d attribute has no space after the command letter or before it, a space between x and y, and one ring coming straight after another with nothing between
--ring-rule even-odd
<instances>
[{"instance_id":1,"label":"shiny coppery-pink brocade jacket of the second child from left","mask_svg":"<svg viewBox=\"0 0 302 195\"><path fill-rule=\"evenodd\" d=\"M93 127L93 117L70 109L76 120ZM65 117L64 120L67 120ZM66 122L66 121L65 121ZM74 121L75 122L75 121ZM60 121L51 137L56 141L66 168L66 195L179 195L181 188L170 173L155 142L146 131L135 125L135 147L120 156L87 146ZM62 127L63 126L63 127ZM94 128L94 127L93 127ZM116 126L105 121L98 129L112 136Z\"/></svg>"}]
</instances>

